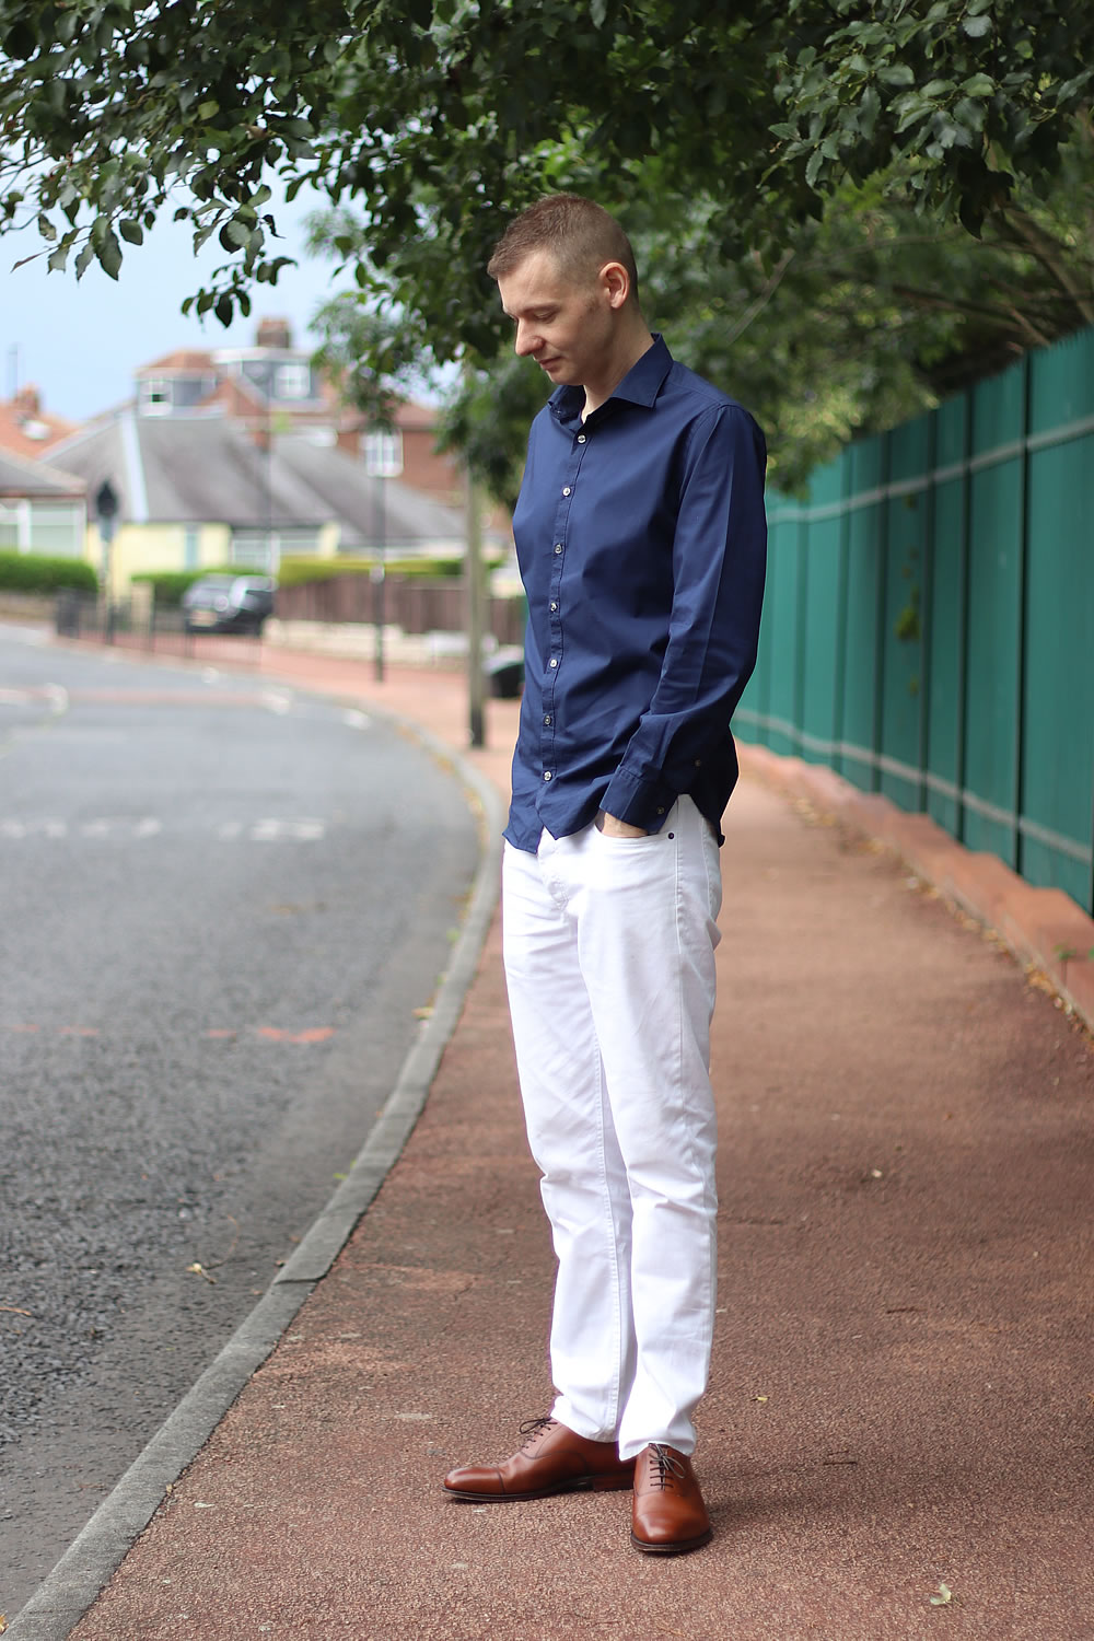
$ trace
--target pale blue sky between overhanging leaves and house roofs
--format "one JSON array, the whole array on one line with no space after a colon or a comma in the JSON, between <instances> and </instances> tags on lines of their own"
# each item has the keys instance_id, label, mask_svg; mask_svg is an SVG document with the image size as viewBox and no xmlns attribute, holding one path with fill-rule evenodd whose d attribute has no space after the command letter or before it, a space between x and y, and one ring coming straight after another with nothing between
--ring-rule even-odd
<instances>
[{"instance_id":1,"label":"pale blue sky between overhanging leaves and house roofs","mask_svg":"<svg viewBox=\"0 0 1094 1641\"><path fill-rule=\"evenodd\" d=\"M297 256L277 286L254 286L251 317L225 327L207 315L184 317L192 295L226 258L215 236L195 258L192 228L169 218L157 222L144 245L123 245L125 259L116 282L92 264L75 274L51 274L46 258L11 271L41 245L31 231L0 236L0 399L13 384L33 382L43 410L82 422L133 394L133 373L175 348L230 348L254 341L259 318L292 323L294 345L318 346L308 331L315 310L336 290L351 287L351 276L335 277L335 264L303 251L305 218L315 195L300 192L292 205L271 203L282 245L277 253Z\"/></svg>"}]
</instances>

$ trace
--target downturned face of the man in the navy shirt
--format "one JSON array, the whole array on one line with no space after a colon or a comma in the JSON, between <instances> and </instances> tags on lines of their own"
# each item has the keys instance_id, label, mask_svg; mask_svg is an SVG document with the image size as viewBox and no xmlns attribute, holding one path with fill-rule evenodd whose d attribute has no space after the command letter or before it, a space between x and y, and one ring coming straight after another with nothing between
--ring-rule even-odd
<instances>
[{"instance_id":1,"label":"downturned face of the man in the navy shirt","mask_svg":"<svg viewBox=\"0 0 1094 1641\"><path fill-rule=\"evenodd\" d=\"M584 387L612 358L615 336L609 292L566 277L554 258L535 251L497 281L502 307L513 320L513 346L535 359L553 382Z\"/></svg>"}]
</instances>

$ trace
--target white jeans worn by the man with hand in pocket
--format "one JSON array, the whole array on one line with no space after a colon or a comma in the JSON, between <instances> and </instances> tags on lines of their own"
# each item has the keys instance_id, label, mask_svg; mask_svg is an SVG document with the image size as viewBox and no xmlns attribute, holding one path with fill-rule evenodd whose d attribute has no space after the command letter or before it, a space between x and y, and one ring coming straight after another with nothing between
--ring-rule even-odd
<instances>
[{"instance_id":1,"label":"white jeans worn by the man with hand in pocket","mask_svg":"<svg viewBox=\"0 0 1094 1641\"><path fill-rule=\"evenodd\" d=\"M651 1441L691 1452L707 1383L720 904L691 798L650 837L505 845L508 1001L558 1255L553 1415L623 1459Z\"/></svg>"}]
</instances>

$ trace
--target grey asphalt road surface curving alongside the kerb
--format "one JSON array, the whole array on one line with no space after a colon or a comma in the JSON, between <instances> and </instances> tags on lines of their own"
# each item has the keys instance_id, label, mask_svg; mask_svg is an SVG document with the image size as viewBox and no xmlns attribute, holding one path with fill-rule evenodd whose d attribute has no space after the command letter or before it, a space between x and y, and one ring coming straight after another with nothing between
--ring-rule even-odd
<instances>
[{"instance_id":1,"label":"grey asphalt road surface curving alongside the kerb","mask_svg":"<svg viewBox=\"0 0 1094 1641\"><path fill-rule=\"evenodd\" d=\"M364 712L0 627L0 1613L349 1168L476 863Z\"/></svg>"}]
</instances>

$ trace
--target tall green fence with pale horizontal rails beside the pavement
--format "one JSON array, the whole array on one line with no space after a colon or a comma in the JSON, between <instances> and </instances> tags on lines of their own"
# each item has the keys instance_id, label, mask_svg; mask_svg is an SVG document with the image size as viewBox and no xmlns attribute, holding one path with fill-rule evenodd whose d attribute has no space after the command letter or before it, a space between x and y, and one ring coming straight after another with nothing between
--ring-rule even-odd
<instances>
[{"instance_id":1,"label":"tall green fence with pale horizontal rails beside the pavement","mask_svg":"<svg viewBox=\"0 0 1094 1641\"><path fill-rule=\"evenodd\" d=\"M771 497L736 727L1094 911L1094 328Z\"/></svg>"}]
</instances>

